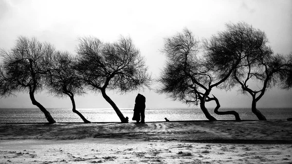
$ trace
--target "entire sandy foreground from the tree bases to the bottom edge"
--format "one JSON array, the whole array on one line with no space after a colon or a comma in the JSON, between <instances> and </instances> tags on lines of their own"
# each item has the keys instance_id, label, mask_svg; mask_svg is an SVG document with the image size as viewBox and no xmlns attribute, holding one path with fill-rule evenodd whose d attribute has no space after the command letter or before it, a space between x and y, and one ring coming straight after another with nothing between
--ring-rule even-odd
<instances>
[{"instance_id":1,"label":"entire sandy foreground from the tree bases to the bottom edge","mask_svg":"<svg viewBox=\"0 0 292 164\"><path fill-rule=\"evenodd\" d=\"M0 164L292 164L292 122L0 124Z\"/></svg>"}]
</instances>

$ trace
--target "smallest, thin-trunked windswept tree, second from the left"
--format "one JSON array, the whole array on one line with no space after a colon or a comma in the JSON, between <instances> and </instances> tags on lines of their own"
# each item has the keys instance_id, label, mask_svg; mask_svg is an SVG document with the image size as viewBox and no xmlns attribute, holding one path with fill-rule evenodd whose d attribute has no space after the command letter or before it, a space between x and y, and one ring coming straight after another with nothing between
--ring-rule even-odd
<instances>
[{"instance_id":1,"label":"smallest, thin-trunked windswept tree, second from the left","mask_svg":"<svg viewBox=\"0 0 292 164\"><path fill-rule=\"evenodd\" d=\"M69 52L56 52L52 55L51 65L48 66L47 88L49 92L58 97L69 96L72 102L72 111L83 120L91 123L78 110L76 110L74 95L84 94L84 85L74 70L75 58Z\"/></svg>"}]
</instances>

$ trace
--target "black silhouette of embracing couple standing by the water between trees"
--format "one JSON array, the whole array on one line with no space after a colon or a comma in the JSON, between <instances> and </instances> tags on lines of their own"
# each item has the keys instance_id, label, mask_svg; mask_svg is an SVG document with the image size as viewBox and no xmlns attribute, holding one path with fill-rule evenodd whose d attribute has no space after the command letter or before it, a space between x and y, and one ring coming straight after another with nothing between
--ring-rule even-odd
<instances>
[{"instance_id":1,"label":"black silhouette of embracing couple standing by the water between trees","mask_svg":"<svg viewBox=\"0 0 292 164\"><path fill-rule=\"evenodd\" d=\"M141 114L141 123L145 123L145 105L146 98L138 93L135 99L134 115L132 120L137 121L137 124L140 124L140 114Z\"/></svg>"}]
</instances>

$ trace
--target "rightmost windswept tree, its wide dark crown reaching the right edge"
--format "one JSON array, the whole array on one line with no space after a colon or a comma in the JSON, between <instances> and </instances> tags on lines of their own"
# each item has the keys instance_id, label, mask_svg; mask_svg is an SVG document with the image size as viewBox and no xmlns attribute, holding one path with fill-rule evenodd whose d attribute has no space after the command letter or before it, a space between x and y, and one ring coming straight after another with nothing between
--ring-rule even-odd
<instances>
[{"instance_id":1,"label":"rightmost windswept tree, its wide dark crown reaching the right edge","mask_svg":"<svg viewBox=\"0 0 292 164\"><path fill-rule=\"evenodd\" d=\"M204 42L207 58L219 75L236 67L221 88L230 89L239 85L242 93L252 96L252 112L259 120L266 120L256 109L256 102L275 85L283 89L291 88L291 54L274 55L267 46L266 34L245 22L229 23L226 28L226 31Z\"/></svg>"}]
</instances>

